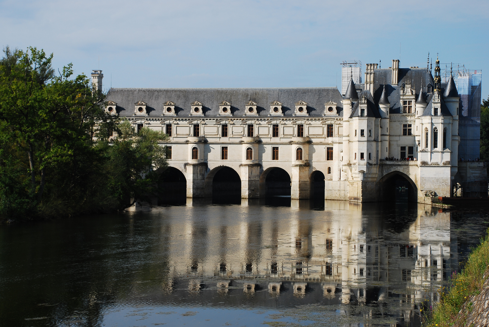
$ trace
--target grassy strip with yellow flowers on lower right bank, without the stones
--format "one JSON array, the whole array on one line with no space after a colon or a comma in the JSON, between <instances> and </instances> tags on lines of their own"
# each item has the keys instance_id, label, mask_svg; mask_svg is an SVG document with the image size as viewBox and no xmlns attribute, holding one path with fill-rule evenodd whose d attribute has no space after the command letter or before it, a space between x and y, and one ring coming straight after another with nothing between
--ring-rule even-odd
<instances>
[{"instance_id":1,"label":"grassy strip with yellow flowers on lower right bank, without the stones","mask_svg":"<svg viewBox=\"0 0 489 327\"><path fill-rule=\"evenodd\" d=\"M465 326L470 313L473 295L480 293L484 284L483 276L489 265L489 228L481 244L470 253L461 273L454 274L451 285L446 291L441 290L440 302L428 315L428 326ZM424 324L423 324L424 325Z\"/></svg>"}]
</instances>

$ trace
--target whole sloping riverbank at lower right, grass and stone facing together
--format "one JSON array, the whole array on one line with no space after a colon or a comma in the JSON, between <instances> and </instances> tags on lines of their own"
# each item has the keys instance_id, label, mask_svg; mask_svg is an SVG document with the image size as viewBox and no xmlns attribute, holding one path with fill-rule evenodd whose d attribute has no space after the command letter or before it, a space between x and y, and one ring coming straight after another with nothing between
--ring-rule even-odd
<instances>
[{"instance_id":1,"label":"whole sloping riverbank at lower right, grass and stone facing together","mask_svg":"<svg viewBox=\"0 0 489 327\"><path fill-rule=\"evenodd\" d=\"M489 229L459 274L453 274L447 292L428 320L430 327L487 326L489 321ZM422 309L423 310L423 309Z\"/></svg>"}]
</instances>

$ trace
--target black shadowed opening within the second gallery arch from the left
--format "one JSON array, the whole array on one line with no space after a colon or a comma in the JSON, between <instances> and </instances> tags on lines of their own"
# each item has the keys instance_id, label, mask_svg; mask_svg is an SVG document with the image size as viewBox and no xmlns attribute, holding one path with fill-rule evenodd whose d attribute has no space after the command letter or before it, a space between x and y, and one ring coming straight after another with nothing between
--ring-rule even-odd
<instances>
[{"instance_id":1,"label":"black shadowed opening within the second gallery arch from the left","mask_svg":"<svg viewBox=\"0 0 489 327\"><path fill-rule=\"evenodd\" d=\"M230 167L221 167L212 178L212 202L217 204L241 203L241 178Z\"/></svg>"}]
</instances>

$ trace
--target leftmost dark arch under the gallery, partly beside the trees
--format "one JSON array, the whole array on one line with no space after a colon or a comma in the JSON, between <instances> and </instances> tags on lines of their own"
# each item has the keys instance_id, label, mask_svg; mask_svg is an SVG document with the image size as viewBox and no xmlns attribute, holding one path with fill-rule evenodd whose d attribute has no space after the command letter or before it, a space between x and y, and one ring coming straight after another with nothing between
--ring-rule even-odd
<instances>
[{"instance_id":1,"label":"leftmost dark arch under the gallery, partly beside the trees","mask_svg":"<svg viewBox=\"0 0 489 327\"><path fill-rule=\"evenodd\" d=\"M186 204L187 179L175 167L166 168L158 179L158 204Z\"/></svg>"}]
</instances>

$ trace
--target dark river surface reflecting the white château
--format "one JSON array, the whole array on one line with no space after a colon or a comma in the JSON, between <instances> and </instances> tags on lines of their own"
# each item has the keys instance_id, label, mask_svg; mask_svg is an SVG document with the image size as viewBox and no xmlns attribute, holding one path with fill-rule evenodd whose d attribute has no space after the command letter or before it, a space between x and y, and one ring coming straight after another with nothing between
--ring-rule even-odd
<instances>
[{"instance_id":1,"label":"dark river surface reflecting the white ch\u00e2teau","mask_svg":"<svg viewBox=\"0 0 489 327\"><path fill-rule=\"evenodd\" d=\"M488 223L279 198L0 225L0 326L420 326Z\"/></svg>"}]
</instances>

